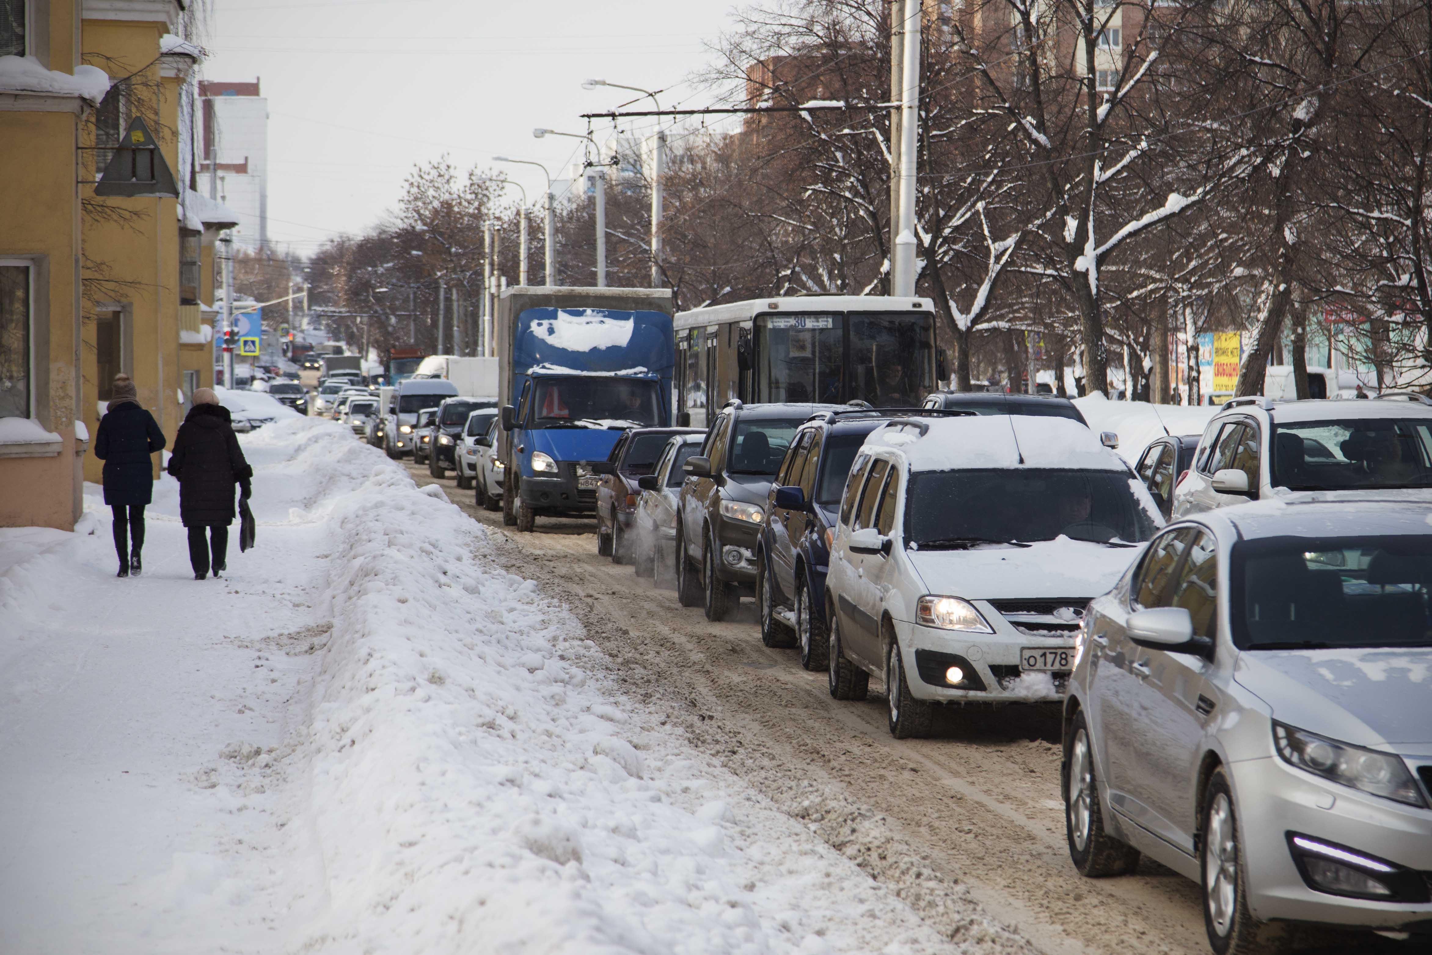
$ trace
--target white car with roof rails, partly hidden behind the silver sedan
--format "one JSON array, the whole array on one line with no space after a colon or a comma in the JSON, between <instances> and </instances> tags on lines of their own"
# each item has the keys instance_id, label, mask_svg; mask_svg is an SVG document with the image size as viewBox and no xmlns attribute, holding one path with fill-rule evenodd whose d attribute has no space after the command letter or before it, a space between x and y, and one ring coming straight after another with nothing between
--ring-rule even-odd
<instances>
[{"instance_id":1,"label":"white car with roof rails, partly hidden behind the silver sedan","mask_svg":"<svg viewBox=\"0 0 1432 955\"><path fill-rule=\"evenodd\" d=\"M1234 398L1203 431L1173 517L1257 500L1432 500L1432 401Z\"/></svg>"}]
</instances>

